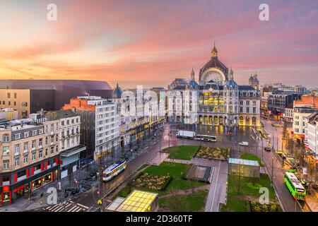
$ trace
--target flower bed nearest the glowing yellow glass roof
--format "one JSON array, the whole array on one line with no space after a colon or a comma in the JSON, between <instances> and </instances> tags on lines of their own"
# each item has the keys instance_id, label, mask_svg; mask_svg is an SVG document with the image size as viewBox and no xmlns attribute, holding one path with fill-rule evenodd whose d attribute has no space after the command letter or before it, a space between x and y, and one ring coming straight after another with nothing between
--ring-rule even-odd
<instances>
[{"instance_id":1,"label":"flower bed nearest the glowing yellow glass roof","mask_svg":"<svg viewBox=\"0 0 318 226\"><path fill-rule=\"evenodd\" d=\"M146 188L154 191L163 191L170 182L170 176L155 176L152 174L141 174L134 182L136 188Z\"/></svg>"}]
</instances>

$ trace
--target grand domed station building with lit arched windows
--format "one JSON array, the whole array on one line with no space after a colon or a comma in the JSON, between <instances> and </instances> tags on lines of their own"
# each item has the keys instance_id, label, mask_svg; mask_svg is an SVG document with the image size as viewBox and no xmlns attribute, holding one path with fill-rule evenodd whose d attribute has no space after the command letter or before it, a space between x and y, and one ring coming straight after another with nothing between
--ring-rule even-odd
<instances>
[{"instance_id":1,"label":"grand domed station building with lit arched windows","mask_svg":"<svg viewBox=\"0 0 318 226\"><path fill-rule=\"evenodd\" d=\"M232 69L218 59L215 45L210 61L199 71L199 83L196 83L192 69L187 85L182 84L173 82L168 87L169 121L212 126L260 126L259 90L251 85L237 85Z\"/></svg>"}]
</instances>

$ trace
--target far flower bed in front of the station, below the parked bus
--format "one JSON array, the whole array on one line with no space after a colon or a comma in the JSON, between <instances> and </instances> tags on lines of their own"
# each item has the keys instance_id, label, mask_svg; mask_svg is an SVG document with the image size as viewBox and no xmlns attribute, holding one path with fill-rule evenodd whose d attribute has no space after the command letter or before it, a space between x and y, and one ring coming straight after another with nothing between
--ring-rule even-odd
<instances>
[{"instance_id":1,"label":"far flower bed in front of the station, below the parked bus","mask_svg":"<svg viewBox=\"0 0 318 226\"><path fill-rule=\"evenodd\" d=\"M228 154L229 154L228 148L201 147L196 153L196 157L215 159L215 160L226 160L228 159Z\"/></svg>"}]
</instances>

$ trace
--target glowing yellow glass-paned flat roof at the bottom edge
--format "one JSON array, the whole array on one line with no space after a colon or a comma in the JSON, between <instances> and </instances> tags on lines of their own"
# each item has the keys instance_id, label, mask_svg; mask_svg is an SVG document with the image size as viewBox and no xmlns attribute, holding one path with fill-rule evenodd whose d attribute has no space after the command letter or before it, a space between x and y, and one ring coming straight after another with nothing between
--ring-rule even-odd
<instances>
[{"instance_id":1,"label":"glowing yellow glass-paned flat roof at the bottom edge","mask_svg":"<svg viewBox=\"0 0 318 226\"><path fill-rule=\"evenodd\" d=\"M119 212L148 212L158 194L148 191L134 190L116 209ZM112 205L112 204L111 204Z\"/></svg>"}]
</instances>

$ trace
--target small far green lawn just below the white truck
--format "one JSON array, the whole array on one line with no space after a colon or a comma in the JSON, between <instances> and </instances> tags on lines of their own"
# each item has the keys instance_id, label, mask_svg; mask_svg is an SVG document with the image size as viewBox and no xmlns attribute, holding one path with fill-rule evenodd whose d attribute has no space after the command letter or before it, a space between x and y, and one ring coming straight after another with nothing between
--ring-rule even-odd
<instances>
[{"instance_id":1,"label":"small far green lawn just below the white truck","mask_svg":"<svg viewBox=\"0 0 318 226\"><path fill-rule=\"evenodd\" d=\"M184 145L165 148L163 152L170 153L169 158L176 160L192 160L198 150L198 146Z\"/></svg>"}]
</instances>

